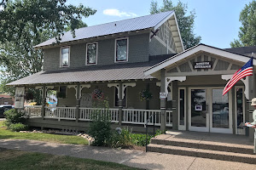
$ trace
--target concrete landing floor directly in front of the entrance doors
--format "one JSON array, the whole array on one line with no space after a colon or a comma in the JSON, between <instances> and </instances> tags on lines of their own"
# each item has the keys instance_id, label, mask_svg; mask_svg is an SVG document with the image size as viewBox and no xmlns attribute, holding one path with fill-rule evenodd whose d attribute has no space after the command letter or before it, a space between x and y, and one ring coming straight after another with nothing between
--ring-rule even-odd
<instances>
[{"instance_id":1,"label":"concrete landing floor directly in front of the entrance doors","mask_svg":"<svg viewBox=\"0 0 256 170\"><path fill-rule=\"evenodd\" d=\"M180 140L182 142L200 143L200 144L219 144L219 145L248 145L253 146L253 139L245 135L226 134L226 133L202 133L193 131L169 130L166 134L158 136L163 140Z\"/></svg>"}]
</instances>

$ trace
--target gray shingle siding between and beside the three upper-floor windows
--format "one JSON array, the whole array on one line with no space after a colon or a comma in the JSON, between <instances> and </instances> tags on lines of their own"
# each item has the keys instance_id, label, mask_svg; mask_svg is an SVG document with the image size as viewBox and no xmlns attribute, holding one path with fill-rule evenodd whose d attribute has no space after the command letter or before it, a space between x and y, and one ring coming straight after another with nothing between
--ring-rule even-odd
<instances>
[{"instance_id":1,"label":"gray shingle siding between and beside the three upper-floor windows","mask_svg":"<svg viewBox=\"0 0 256 170\"><path fill-rule=\"evenodd\" d=\"M127 63L148 61L148 33L129 37L129 54ZM98 65L114 64L115 38L98 41ZM44 49L43 71L63 69L60 67L61 48ZM83 67L85 65L86 43L70 46L70 66L68 68ZM93 65L90 65L93 66ZM64 69L68 69L67 67Z\"/></svg>"}]
</instances>

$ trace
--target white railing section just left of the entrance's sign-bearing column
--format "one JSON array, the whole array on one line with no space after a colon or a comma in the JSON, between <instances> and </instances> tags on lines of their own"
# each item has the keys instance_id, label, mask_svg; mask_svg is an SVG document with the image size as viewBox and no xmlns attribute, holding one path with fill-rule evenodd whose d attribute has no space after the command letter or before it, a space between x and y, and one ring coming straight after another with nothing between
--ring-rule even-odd
<instances>
[{"instance_id":1,"label":"white railing section just left of the entrance's sign-bearing column","mask_svg":"<svg viewBox=\"0 0 256 170\"><path fill-rule=\"evenodd\" d=\"M139 109L123 109L123 123L145 124L148 118L148 125L160 126L160 110L139 110Z\"/></svg>"}]
</instances>

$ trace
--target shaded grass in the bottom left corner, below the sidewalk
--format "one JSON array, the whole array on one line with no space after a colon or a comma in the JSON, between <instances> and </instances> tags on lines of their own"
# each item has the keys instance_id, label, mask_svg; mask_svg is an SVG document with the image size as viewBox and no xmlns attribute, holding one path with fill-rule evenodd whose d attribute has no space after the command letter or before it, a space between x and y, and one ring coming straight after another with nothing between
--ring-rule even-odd
<instances>
[{"instance_id":1,"label":"shaded grass in the bottom left corner, below the sidewalk","mask_svg":"<svg viewBox=\"0 0 256 170\"><path fill-rule=\"evenodd\" d=\"M2 170L137 169L134 167L127 167L125 165L107 161L95 161L69 156L53 156L43 153L27 152L20 150L6 150L2 148L0 148L0 165Z\"/></svg>"}]
</instances>

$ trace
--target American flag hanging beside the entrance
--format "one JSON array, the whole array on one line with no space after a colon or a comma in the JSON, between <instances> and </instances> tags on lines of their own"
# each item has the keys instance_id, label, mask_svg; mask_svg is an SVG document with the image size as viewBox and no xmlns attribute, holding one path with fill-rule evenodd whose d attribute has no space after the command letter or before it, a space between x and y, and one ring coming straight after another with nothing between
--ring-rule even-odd
<instances>
[{"instance_id":1,"label":"American flag hanging beside the entrance","mask_svg":"<svg viewBox=\"0 0 256 170\"><path fill-rule=\"evenodd\" d=\"M249 59L248 62L241 67L241 69L236 71L233 77L231 77L230 81L226 84L222 95L224 96L224 94L226 94L241 78L247 76L253 76L253 57Z\"/></svg>"}]
</instances>

